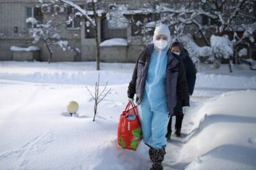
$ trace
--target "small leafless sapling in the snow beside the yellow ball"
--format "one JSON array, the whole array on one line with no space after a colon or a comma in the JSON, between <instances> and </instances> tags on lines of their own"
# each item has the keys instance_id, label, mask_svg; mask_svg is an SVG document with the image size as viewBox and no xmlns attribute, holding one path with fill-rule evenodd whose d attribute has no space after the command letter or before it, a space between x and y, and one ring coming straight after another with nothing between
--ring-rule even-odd
<instances>
[{"instance_id":1,"label":"small leafless sapling in the snow beside the yellow ball","mask_svg":"<svg viewBox=\"0 0 256 170\"><path fill-rule=\"evenodd\" d=\"M111 90L111 88L106 89L107 86L108 86L108 82L106 82L106 85L105 85L104 89L100 92L99 91L99 82L100 82L100 74L98 76L98 81L95 82L95 92L94 93L92 93L92 91L90 91L90 89L87 86L85 86L86 89L88 90L88 92L90 93L90 95L92 96L93 100L94 100L93 121L95 121L95 116L97 114L97 108L98 108L99 103L108 95L109 91Z\"/></svg>"}]
</instances>

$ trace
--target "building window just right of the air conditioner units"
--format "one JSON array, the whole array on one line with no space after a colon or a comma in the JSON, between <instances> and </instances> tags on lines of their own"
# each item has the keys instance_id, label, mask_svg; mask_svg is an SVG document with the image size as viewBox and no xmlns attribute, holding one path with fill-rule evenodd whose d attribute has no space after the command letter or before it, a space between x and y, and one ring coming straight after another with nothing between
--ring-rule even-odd
<instances>
[{"instance_id":1,"label":"building window just right of the air conditioner units","mask_svg":"<svg viewBox=\"0 0 256 170\"><path fill-rule=\"evenodd\" d=\"M83 6L80 6L80 7L83 8ZM79 11L70 6L68 6L67 8L67 20L68 20L67 22L68 28L78 29L79 27L81 27L81 17L80 17Z\"/></svg>"}]
</instances>

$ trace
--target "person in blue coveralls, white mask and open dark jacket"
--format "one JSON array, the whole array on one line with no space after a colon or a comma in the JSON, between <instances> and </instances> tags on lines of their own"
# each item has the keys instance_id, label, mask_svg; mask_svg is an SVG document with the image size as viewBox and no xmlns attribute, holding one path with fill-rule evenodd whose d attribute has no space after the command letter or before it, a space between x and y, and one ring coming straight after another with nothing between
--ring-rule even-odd
<instances>
[{"instance_id":1,"label":"person in blue coveralls, white mask and open dark jacket","mask_svg":"<svg viewBox=\"0 0 256 170\"><path fill-rule=\"evenodd\" d=\"M189 105L189 93L183 63L170 50L168 26L156 27L153 42L136 62L127 95L133 102L136 94L143 141L150 148L151 169L163 169L168 121L177 101L182 106Z\"/></svg>"}]
</instances>

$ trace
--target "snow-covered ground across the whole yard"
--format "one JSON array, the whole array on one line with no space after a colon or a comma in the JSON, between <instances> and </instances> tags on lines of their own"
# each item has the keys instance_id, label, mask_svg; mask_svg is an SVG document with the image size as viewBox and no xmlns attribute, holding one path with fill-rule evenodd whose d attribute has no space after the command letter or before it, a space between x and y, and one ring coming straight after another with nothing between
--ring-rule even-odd
<instances>
[{"instance_id":1,"label":"snow-covered ground across the whole yard","mask_svg":"<svg viewBox=\"0 0 256 170\"><path fill-rule=\"evenodd\" d=\"M148 169L148 147L117 148L134 64L0 62L0 169ZM256 72L198 67L182 136L166 148L165 169L256 169ZM111 92L93 122L85 86L100 73ZM103 88L102 86L100 87ZM66 105L79 103L70 117Z\"/></svg>"}]
</instances>

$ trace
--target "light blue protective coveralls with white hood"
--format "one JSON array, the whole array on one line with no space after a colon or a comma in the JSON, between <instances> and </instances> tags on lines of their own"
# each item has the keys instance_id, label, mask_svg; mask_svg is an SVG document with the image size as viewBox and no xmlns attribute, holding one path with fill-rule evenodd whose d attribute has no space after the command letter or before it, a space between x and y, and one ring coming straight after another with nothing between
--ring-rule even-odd
<instances>
[{"instance_id":1,"label":"light blue protective coveralls with white hood","mask_svg":"<svg viewBox=\"0 0 256 170\"><path fill-rule=\"evenodd\" d=\"M164 49L154 50L150 55L143 100L138 105L143 141L153 148L163 148L166 144L165 134L167 132L168 114L166 97L166 66L168 56L166 52L170 47L170 31L166 26L159 26L154 32L157 35L168 37L168 43Z\"/></svg>"}]
</instances>

